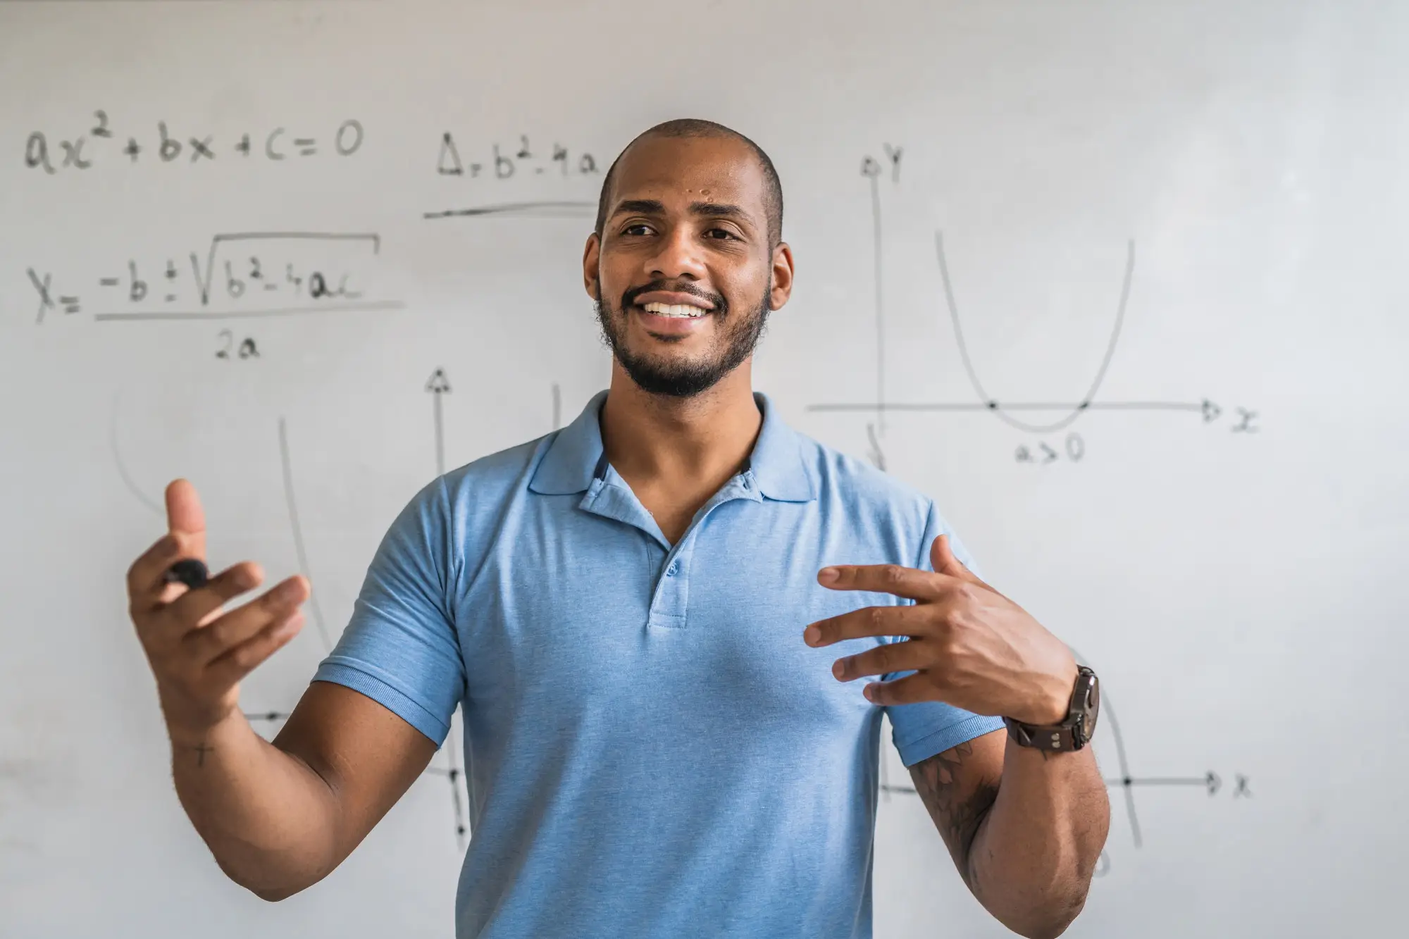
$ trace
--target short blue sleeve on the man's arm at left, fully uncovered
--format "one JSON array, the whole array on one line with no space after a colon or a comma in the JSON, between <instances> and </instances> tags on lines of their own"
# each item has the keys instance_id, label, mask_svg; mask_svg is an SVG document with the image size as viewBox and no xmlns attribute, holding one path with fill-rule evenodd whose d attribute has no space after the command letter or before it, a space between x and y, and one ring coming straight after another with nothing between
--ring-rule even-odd
<instances>
[{"instance_id":1,"label":"short blue sleeve on the man's arm at left, fully uncovered","mask_svg":"<svg viewBox=\"0 0 1409 939\"><path fill-rule=\"evenodd\" d=\"M447 599L449 517L441 479L402 509L372 557L352 619L313 675L372 698L435 746L449 733L465 685Z\"/></svg>"}]
</instances>

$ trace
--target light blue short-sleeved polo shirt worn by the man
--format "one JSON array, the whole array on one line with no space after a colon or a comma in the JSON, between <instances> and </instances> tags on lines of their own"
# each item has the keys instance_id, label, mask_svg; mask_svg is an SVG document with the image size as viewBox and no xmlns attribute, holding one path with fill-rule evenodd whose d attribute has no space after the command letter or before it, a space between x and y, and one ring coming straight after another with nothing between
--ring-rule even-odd
<instances>
[{"instance_id":1,"label":"light blue short-sleeved polo shirt worn by the man","mask_svg":"<svg viewBox=\"0 0 1409 939\"><path fill-rule=\"evenodd\" d=\"M831 663L890 640L802 632L910 602L819 568L929 568L950 529L755 395L750 467L671 544L604 458L604 400L421 489L314 680L437 744L464 705L458 939L869 936L882 708ZM906 764L1002 728L883 709Z\"/></svg>"}]
</instances>

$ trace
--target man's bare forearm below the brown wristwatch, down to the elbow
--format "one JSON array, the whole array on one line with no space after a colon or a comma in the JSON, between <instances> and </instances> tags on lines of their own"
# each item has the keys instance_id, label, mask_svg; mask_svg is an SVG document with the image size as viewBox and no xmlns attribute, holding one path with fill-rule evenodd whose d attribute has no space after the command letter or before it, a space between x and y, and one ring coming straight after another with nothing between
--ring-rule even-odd
<instances>
[{"instance_id":1,"label":"man's bare forearm below the brown wristwatch, down to the elbow","mask_svg":"<svg viewBox=\"0 0 1409 939\"><path fill-rule=\"evenodd\" d=\"M1057 936L1086 901L1109 823L1091 747L1043 753L1009 740L996 799L967 856L969 885L1009 929Z\"/></svg>"}]
</instances>

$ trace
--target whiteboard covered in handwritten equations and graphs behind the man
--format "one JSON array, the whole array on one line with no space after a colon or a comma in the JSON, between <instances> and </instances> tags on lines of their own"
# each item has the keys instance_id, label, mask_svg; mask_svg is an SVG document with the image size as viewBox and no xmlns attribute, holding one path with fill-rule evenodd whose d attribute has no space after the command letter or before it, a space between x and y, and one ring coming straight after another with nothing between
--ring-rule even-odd
<instances>
[{"instance_id":1,"label":"whiteboard covered in handwritten equations and graphs behind the man","mask_svg":"<svg viewBox=\"0 0 1409 939\"><path fill-rule=\"evenodd\" d=\"M0 4L0 933L452 933L458 728L265 904L172 792L123 572L185 475L214 564L310 575L242 685L272 733L411 493L606 386L600 173L681 116L782 176L757 386L1103 678L1069 935L1388 933L1406 44L1384 3ZM1005 935L907 782L888 747L875 933Z\"/></svg>"}]
</instances>

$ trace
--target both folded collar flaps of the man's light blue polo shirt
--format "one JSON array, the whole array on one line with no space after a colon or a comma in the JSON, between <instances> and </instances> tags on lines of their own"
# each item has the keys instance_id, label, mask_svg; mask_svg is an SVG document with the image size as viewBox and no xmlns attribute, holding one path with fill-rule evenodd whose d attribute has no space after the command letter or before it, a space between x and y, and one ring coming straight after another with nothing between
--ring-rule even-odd
<instances>
[{"instance_id":1,"label":"both folded collar flaps of the man's light blue polo shirt","mask_svg":"<svg viewBox=\"0 0 1409 939\"><path fill-rule=\"evenodd\" d=\"M592 396L582 413L558 431L528 481L528 489L542 495L586 492L606 470L602 448L602 405L607 392ZM817 498L812 474L802 455L799 434L783 423L776 406L762 392L754 400L764 415L764 424L748 457L748 474L759 493L781 502L810 502Z\"/></svg>"}]
</instances>

